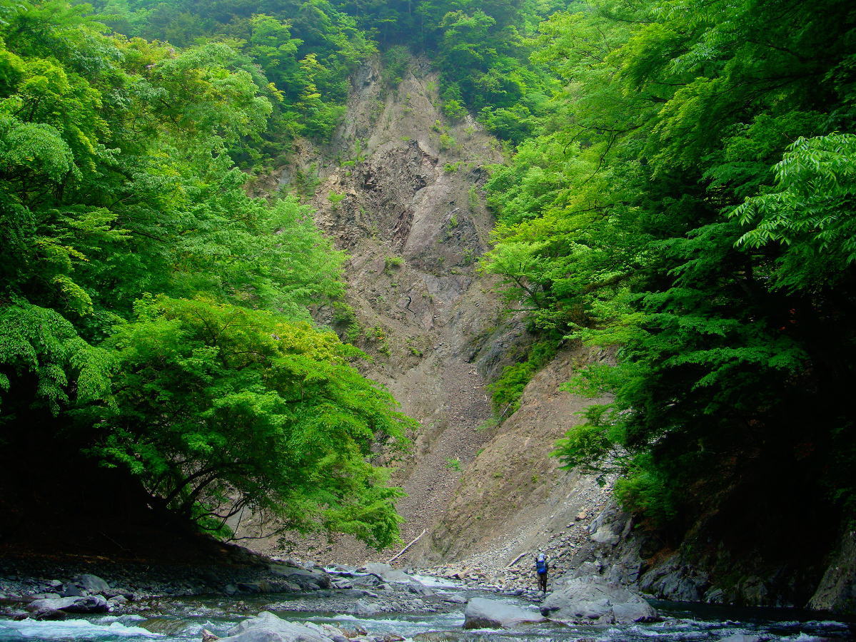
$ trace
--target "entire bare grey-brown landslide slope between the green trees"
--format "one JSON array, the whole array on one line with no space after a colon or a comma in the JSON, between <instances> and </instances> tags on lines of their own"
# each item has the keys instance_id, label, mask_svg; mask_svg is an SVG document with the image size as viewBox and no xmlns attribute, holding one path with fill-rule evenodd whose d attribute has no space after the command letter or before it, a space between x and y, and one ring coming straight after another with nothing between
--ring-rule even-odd
<instances>
[{"instance_id":1,"label":"entire bare grey-brown landslide slope between the green trees","mask_svg":"<svg viewBox=\"0 0 856 642\"><path fill-rule=\"evenodd\" d=\"M481 194L485 166L502 160L501 145L476 121L443 115L427 62L414 60L390 87L376 60L355 74L330 148L301 145L278 175L280 186L314 187L318 226L350 256L351 309L322 309L319 320L372 356L365 374L419 421L394 477L407 492L398 504L402 538L425 532L400 558L409 565L482 556L500 567L606 497L548 456L591 403L558 391L588 353L563 354L515 415L480 429L492 417L485 386L530 340L518 318L502 315L495 280L477 271L493 227ZM245 524L245 533L254 527ZM337 562L397 552L344 537L253 547Z\"/></svg>"}]
</instances>

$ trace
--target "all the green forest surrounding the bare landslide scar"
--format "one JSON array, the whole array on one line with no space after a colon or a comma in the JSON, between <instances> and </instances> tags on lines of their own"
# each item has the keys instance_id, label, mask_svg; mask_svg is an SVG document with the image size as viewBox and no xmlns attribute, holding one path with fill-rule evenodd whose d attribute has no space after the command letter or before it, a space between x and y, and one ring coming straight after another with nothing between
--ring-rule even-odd
<instances>
[{"instance_id":1,"label":"all the green forest surrounding the bare landslide scar","mask_svg":"<svg viewBox=\"0 0 856 642\"><path fill-rule=\"evenodd\" d=\"M217 530L245 507L395 538L409 421L312 326L342 255L247 174L330 138L348 75L431 58L516 148L485 271L539 341L616 363L556 451L687 527L740 485L856 501L856 13L822 0L0 0L0 428L128 468ZM102 24L104 23L104 24ZM105 27L105 25L109 27ZM106 35L110 28L115 35ZM125 35L119 35L125 34ZM341 305L341 304L340 304ZM842 510L843 509L843 510Z\"/></svg>"}]
</instances>

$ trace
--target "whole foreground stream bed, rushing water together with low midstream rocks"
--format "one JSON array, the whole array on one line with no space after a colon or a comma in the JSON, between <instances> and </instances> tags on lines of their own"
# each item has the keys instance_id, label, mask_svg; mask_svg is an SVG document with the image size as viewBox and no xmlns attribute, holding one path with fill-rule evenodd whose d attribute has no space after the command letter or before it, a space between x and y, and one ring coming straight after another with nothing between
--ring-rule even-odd
<instances>
[{"instance_id":1,"label":"whole foreground stream bed, rushing water together with low midstream rocks","mask_svg":"<svg viewBox=\"0 0 856 642\"><path fill-rule=\"evenodd\" d=\"M345 577L350 572L348 570L330 570L331 584L340 580L354 580ZM361 575L378 580L369 573ZM234 637L235 633L232 632L236 627L243 626L246 629L245 622L265 611L285 622L282 631L275 631L275 635L270 637L262 629L267 642L288 642L282 633L293 627L308 627L333 642L640 642L651 637L667 642L689 639L732 642L853 639L853 631L846 624L828 621L819 614L668 603L656 603L657 610L663 615L662 621L657 622L574 625L558 621L533 621L512 623L503 628L484 626L467 630L464 627L465 610L467 604L473 602L498 602L534 614L538 613L538 609L525 598L479 591L455 582L424 576L412 577L434 595L417 596L410 592L409 586L416 586L411 581L401 582L401 586L397 587L401 590L397 590L394 585L390 589L383 589L378 584L371 589L333 587L293 593L237 593L231 597L222 593L187 597L171 595L128 604L126 611L134 610L134 613L122 614L116 610L110 614L75 614L69 615L65 621L14 621L9 617L0 617L0 642L23 642L27 639L46 642L199 642L204 638L205 631L221 638L230 635ZM371 598L361 591L376 593L378 597ZM407 598L404 591L411 597ZM365 609L366 605L384 601L391 604L389 598L396 597L413 600L412 605L425 604L435 609L421 612ZM363 609L360 609L360 604ZM338 634L336 631L342 633L342 639L333 637Z\"/></svg>"}]
</instances>

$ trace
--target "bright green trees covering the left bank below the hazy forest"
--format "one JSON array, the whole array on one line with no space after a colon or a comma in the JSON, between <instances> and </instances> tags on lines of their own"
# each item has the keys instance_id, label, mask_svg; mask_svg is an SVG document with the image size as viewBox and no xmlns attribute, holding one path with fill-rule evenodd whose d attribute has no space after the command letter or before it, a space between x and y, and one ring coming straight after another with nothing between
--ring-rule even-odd
<instances>
[{"instance_id":1,"label":"bright green trees covering the left bank below the hazy forest","mask_svg":"<svg viewBox=\"0 0 856 642\"><path fill-rule=\"evenodd\" d=\"M205 527L247 506L393 541L367 458L409 420L309 322L342 254L230 157L279 92L228 43L106 36L62 0L0 4L0 38L4 450L32 426Z\"/></svg>"}]
</instances>

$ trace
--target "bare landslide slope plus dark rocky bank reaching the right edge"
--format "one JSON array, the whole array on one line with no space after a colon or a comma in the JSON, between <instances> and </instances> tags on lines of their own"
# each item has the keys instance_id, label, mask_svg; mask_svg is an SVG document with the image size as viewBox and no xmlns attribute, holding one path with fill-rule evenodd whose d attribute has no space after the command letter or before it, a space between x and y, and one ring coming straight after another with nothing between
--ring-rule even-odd
<instances>
[{"instance_id":1,"label":"bare landslide slope plus dark rocky bank reaching the right edge","mask_svg":"<svg viewBox=\"0 0 856 642\"><path fill-rule=\"evenodd\" d=\"M852 533L826 562L789 554L770 562L758 548L764 533L715 514L683 541L666 541L616 507L609 480L598 486L560 468L550 457L556 439L602 400L559 386L582 363L608 359L600 350L562 350L514 415L479 429L492 416L485 386L531 341L519 318L502 315L496 282L477 271L493 225L481 187L485 167L497 162L501 145L478 123L443 116L427 62L413 60L392 87L375 60L354 75L330 146L298 145L261 186L311 196L318 226L350 256L348 308L318 309L318 320L366 350L364 373L419 421L393 481L407 492L398 504L402 538L422 537L397 563L514 588L534 584L530 555L541 550L570 576L602 574L662 598L802 606L815 593L815 608L852 610ZM245 522L241 534L258 528ZM740 550L740 536L748 548ZM397 552L346 537L250 542L257 551L335 562Z\"/></svg>"}]
</instances>

